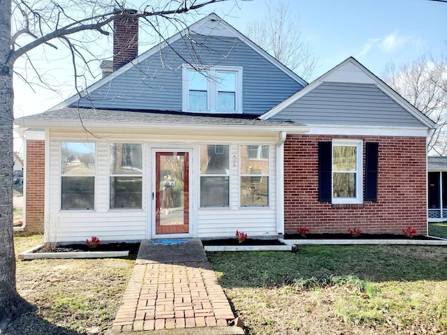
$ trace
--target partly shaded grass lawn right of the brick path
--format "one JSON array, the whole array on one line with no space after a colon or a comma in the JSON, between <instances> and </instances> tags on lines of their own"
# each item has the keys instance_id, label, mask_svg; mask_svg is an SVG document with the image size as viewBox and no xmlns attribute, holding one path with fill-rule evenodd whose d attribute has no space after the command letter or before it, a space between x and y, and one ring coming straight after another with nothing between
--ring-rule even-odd
<instances>
[{"instance_id":1,"label":"partly shaded grass lawn right of the brick path","mask_svg":"<svg viewBox=\"0 0 447 335\"><path fill-rule=\"evenodd\" d=\"M248 334L447 334L447 247L207 255Z\"/></svg>"}]
</instances>

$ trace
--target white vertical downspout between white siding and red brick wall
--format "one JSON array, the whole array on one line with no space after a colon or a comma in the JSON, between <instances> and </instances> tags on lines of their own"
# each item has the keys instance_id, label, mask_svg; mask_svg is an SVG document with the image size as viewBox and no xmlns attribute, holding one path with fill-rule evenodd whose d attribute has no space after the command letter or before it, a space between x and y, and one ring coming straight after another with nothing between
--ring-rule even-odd
<instances>
[{"instance_id":1,"label":"white vertical downspout between white siding and red brick wall","mask_svg":"<svg viewBox=\"0 0 447 335\"><path fill-rule=\"evenodd\" d=\"M286 142L287 132L279 133L279 140L276 144L276 174L277 174L277 233L279 237L284 235L284 142Z\"/></svg>"}]
</instances>

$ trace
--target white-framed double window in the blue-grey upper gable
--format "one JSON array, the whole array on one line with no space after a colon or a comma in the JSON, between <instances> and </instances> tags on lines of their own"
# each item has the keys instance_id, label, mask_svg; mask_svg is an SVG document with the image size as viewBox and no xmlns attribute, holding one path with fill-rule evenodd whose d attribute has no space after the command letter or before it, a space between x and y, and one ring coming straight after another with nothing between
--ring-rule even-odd
<instances>
[{"instance_id":1,"label":"white-framed double window in the blue-grey upper gable","mask_svg":"<svg viewBox=\"0 0 447 335\"><path fill-rule=\"evenodd\" d=\"M242 113L242 68L184 66L182 75L184 112Z\"/></svg>"}]
</instances>

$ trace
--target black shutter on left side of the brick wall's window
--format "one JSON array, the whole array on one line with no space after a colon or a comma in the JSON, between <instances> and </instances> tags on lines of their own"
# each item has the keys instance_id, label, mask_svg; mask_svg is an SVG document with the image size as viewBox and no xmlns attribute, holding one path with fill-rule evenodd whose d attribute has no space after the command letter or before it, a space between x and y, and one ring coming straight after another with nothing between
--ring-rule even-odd
<instances>
[{"instance_id":1,"label":"black shutter on left side of the brick wall's window","mask_svg":"<svg viewBox=\"0 0 447 335\"><path fill-rule=\"evenodd\" d=\"M331 201L332 142L318 142L318 200Z\"/></svg>"}]
</instances>

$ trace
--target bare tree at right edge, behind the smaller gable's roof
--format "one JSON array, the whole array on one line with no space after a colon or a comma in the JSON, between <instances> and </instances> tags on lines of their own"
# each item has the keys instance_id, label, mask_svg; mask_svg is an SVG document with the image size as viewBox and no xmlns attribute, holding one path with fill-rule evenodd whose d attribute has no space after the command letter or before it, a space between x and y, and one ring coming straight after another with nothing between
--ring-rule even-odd
<instances>
[{"instance_id":1,"label":"bare tree at right edge, behind the smaller gable's roof","mask_svg":"<svg viewBox=\"0 0 447 335\"><path fill-rule=\"evenodd\" d=\"M447 61L428 55L396 68L388 65L383 80L439 128L428 140L430 155L447 154Z\"/></svg>"}]
</instances>

